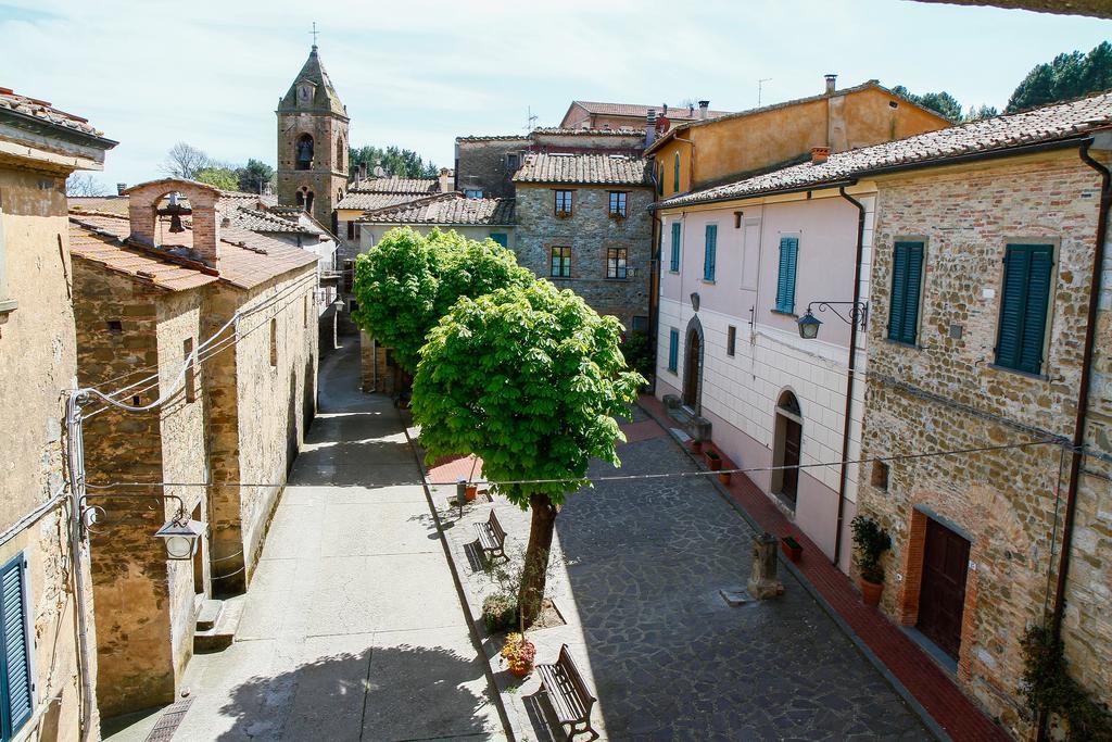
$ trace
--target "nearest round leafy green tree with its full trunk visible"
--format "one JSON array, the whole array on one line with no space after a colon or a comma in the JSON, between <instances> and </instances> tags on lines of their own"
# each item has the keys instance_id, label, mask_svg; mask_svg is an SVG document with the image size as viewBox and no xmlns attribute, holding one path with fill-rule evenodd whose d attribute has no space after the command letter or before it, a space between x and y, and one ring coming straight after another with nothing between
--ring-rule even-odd
<instances>
[{"instance_id":1,"label":"nearest round leafy green tree with its full trunk visible","mask_svg":"<svg viewBox=\"0 0 1112 742\"><path fill-rule=\"evenodd\" d=\"M614 317L537 280L460 299L421 349L413 412L428 456L476 454L494 488L532 511L517 598L525 626L540 611L559 507L590 486L592 458L620 464L615 416L644 383L626 368L620 335Z\"/></svg>"}]
</instances>

